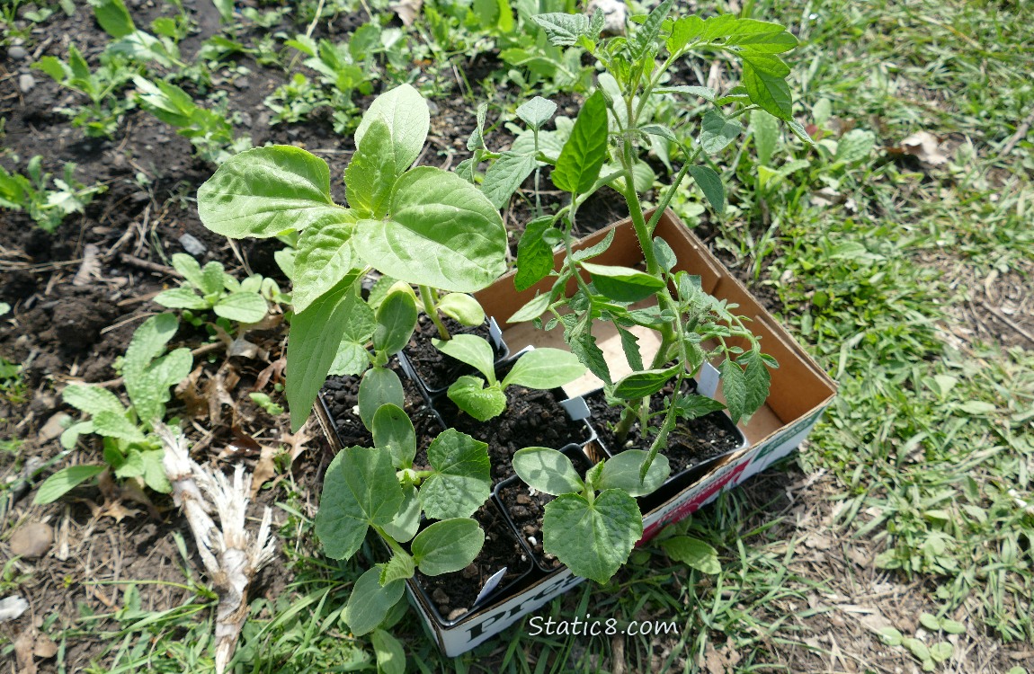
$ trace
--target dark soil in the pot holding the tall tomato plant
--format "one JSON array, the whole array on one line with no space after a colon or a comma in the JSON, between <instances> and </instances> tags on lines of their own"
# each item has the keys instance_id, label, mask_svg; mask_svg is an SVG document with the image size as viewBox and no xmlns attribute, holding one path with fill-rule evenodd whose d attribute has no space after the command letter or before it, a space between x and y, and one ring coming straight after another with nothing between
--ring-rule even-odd
<instances>
[{"instance_id":1,"label":"dark soil in the pot holding the tall tomato plant","mask_svg":"<svg viewBox=\"0 0 1034 674\"><path fill-rule=\"evenodd\" d=\"M696 382L691 381L689 387L691 388L688 389L688 392L695 391ZM650 411L664 410L666 400L670 398L673 391L674 382L669 381L659 394L650 398ZM629 432L630 439L626 441L626 446L618 447L613 429L620 421L621 408L608 405L604 399L603 391L586 396L585 403L590 412L589 423L596 429L601 443L612 454L628 449L648 449L648 441L639 434L639 422L632 426L632 430ZM663 417L660 416L651 418L650 428L660 428L662 421ZM713 411L698 419L679 421L676 429L668 436L668 448L662 453L668 457L671 474L676 476L708 459L736 449L741 441L739 433L734 430L732 421L724 412Z\"/></svg>"}]
</instances>

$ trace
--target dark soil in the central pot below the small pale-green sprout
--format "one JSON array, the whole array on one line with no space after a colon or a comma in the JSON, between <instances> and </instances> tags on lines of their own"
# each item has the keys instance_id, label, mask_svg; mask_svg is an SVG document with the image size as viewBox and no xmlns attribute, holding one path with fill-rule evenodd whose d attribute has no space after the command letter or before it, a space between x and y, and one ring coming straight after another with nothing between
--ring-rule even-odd
<instances>
[{"instance_id":1,"label":"dark soil in the central pot below the small pale-green sprout","mask_svg":"<svg viewBox=\"0 0 1034 674\"><path fill-rule=\"evenodd\" d=\"M504 375L498 373L496 376L501 378ZM514 474L511 462L517 450L525 447L562 450L568 445L588 440L588 427L580 421L572 421L552 391L510 386L506 396L506 411L487 422L479 422L461 411L446 396L434 401L446 426L488 443L493 484Z\"/></svg>"}]
</instances>

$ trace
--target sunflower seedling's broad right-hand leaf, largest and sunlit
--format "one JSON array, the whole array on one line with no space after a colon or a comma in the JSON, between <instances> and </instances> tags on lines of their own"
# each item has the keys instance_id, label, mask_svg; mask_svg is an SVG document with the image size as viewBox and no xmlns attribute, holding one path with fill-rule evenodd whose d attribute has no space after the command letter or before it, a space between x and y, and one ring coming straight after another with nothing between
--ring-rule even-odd
<instances>
[{"instance_id":1,"label":"sunflower seedling's broad right-hand leaf, largest and sunlit","mask_svg":"<svg viewBox=\"0 0 1034 674\"><path fill-rule=\"evenodd\" d=\"M506 271L503 218L477 187L430 166L395 183L390 220L362 220L355 250L394 278L475 293Z\"/></svg>"}]
</instances>

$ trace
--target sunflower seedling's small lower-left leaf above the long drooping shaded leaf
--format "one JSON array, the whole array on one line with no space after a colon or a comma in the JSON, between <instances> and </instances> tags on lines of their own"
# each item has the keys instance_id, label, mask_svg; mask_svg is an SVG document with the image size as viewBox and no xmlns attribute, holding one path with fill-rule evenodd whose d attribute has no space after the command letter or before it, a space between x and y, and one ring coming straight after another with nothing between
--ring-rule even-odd
<instances>
[{"instance_id":1,"label":"sunflower seedling's small lower-left leaf above the long drooping shaded leaf","mask_svg":"<svg viewBox=\"0 0 1034 674\"><path fill-rule=\"evenodd\" d=\"M313 221L298 237L294 289L291 301L295 312L305 311L352 271L356 262L348 240L356 231L351 211L335 213L334 218Z\"/></svg>"}]
</instances>

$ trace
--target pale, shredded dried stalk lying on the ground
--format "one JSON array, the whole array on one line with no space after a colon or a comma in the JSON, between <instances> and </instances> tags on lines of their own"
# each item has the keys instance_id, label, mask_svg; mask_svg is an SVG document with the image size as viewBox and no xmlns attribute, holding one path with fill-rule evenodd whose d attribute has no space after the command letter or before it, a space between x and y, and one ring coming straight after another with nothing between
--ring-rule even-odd
<instances>
[{"instance_id":1,"label":"pale, shredded dried stalk lying on the ground","mask_svg":"<svg viewBox=\"0 0 1034 674\"><path fill-rule=\"evenodd\" d=\"M248 585L276 549L270 535L273 513L265 509L258 533L252 537L244 528L251 491L251 476L244 474L244 466L237 466L231 482L221 472L205 470L190 458L186 438L179 429L158 424L155 432L165 449L162 461L173 485L173 499L187 518L202 562L219 594L215 671L222 674L248 616ZM221 528L212 519L213 511L218 514Z\"/></svg>"}]
</instances>

